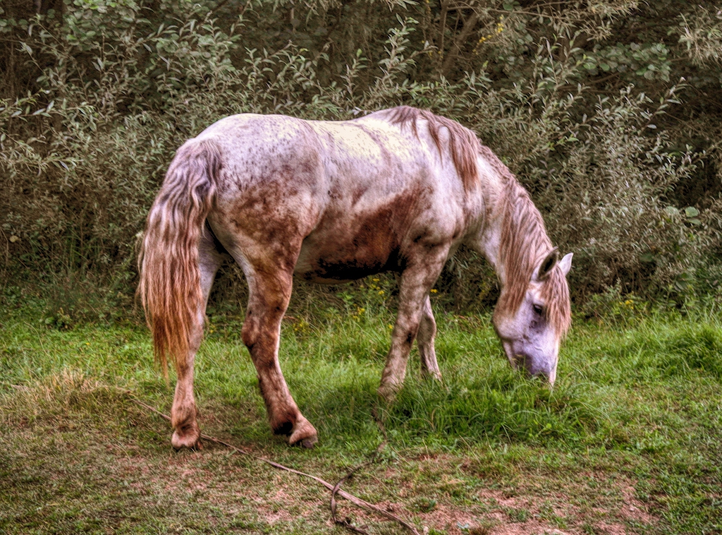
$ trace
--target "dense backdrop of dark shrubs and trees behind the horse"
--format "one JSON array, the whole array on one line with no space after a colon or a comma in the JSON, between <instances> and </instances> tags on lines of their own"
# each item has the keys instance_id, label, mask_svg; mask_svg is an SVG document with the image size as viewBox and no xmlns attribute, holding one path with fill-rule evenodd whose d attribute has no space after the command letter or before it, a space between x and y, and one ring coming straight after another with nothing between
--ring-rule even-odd
<instances>
[{"instance_id":1,"label":"dense backdrop of dark shrubs and trees behind the horse","mask_svg":"<svg viewBox=\"0 0 722 535\"><path fill-rule=\"evenodd\" d=\"M399 104L507 163L578 310L722 301L722 4L4 0L0 73L1 299L50 322L125 313L165 169L212 122ZM495 284L461 252L438 288L474 309Z\"/></svg>"}]
</instances>

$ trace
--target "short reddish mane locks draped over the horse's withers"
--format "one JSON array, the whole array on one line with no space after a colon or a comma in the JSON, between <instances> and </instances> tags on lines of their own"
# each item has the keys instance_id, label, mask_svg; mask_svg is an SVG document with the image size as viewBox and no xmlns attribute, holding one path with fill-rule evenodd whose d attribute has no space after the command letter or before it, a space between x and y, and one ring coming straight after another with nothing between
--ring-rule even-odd
<instances>
[{"instance_id":1,"label":"short reddish mane locks draped over the horse's withers","mask_svg":"<svg viewBox=\"0 0 722 535\"><path fill-rule=\"evenodd\" d=\"M479 173L477 170L477 155L482 145L477 139L477 135L468 128L462 127L456 121L446 119L428 110L420 110L410 106L399 106L391 111L391 123L410 125L414 134L418 137L418 120L426 119L429 125L429 134L439 151L439 155L443 154L443 146L441 140L441 129L445 128L449 133L448 148L451 152L451 159L461 182L464 184L464 190L469 191L477 184Z\"/></svg>"}]
</instances>

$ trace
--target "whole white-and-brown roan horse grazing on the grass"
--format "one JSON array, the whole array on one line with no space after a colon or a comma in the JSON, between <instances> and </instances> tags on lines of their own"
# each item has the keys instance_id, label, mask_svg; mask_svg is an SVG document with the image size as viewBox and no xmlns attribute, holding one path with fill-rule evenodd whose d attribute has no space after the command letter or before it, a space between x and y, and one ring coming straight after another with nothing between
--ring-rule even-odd
<instances>
[{"instance_id":1,"label":"whole white-and-brown roan horse grazing on the grass","mask_svg":"<svg viewBox=\"0 0 722 535\"><path fill-rule=\"evenodd\" d=\"M294 277L340 283L399 274L398 314L378 393L393 399L417 341L440 379L429 294L466 245L500 281L492 322L512 367L557 374L570 326L566 275L529 194L476 134L401 106L349 121L282 115L220 119L176 152L139 250L139 294L162 369L175 364L175 449L200 446L193 361L214 276L227 257L248 282L241 330L271 429L313 447L279 367L281 320Z\"/></svg>"}]
</instances>

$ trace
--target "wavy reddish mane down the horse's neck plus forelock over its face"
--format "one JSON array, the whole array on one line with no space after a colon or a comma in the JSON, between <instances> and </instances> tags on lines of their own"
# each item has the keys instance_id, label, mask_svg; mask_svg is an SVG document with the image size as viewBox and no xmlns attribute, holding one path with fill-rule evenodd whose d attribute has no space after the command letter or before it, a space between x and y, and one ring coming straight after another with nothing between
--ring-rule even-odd
<instances>
[{"instance_id":1,"label":"wavy reddish mane down the horse's neck plus forelock over its face","mask_svg":"<svg viewBox=\"0 0 722 535\"><path fill-rule=\"evenodd\" d=\"M497 156L482 147L482 156L503 180L500 198L503 213L499 256L505 270L505 291L497 307L501 312L515 313L526 295L534 270L552 252L552 241L539 210ZM569 286L559 266L554 266L541 285L541 299L546 303L547 321L557 333L565 335L571 323Z\"/></svg>"}]
</instances>

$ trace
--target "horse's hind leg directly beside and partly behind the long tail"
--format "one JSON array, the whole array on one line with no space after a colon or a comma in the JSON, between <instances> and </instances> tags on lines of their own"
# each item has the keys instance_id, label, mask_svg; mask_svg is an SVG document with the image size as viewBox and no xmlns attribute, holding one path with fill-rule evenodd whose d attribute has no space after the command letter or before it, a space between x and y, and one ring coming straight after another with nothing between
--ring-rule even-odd
<instances>
[{"instance_id":1,"label":"horse's hind leg directly beside and partly behind the long tail","mask_svg":"<svg viewBox=\"0 0 722 535\"><path fill-rule=\"evenodd\" d=\"M173 408L170 409L170 421L173 424L173 437L170 443L173 448L199 448L201 431L198 427L196 400L193 396L193 362L196 359L196 352L201 345L203 338L203 324L206 316L206 304L213 286L213 279L223 261L223 254L220 253L214 244L214 238L207 228L203 229L199 243L199 275L201 278L201 291L203 299L199 307L193 328L188 355L185 361L177 359L175 362L175 396L173 397Z\"/></svg>"}]
</instances>

